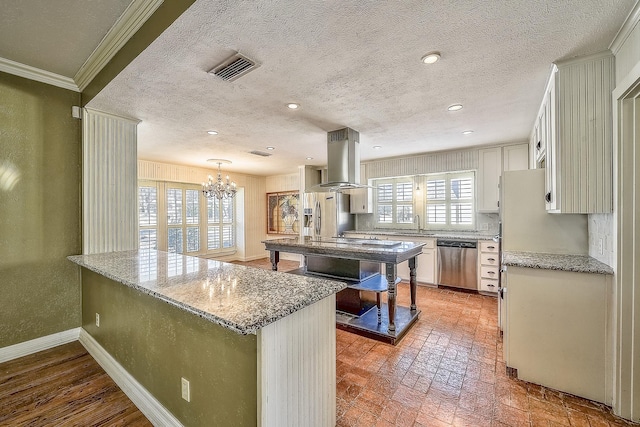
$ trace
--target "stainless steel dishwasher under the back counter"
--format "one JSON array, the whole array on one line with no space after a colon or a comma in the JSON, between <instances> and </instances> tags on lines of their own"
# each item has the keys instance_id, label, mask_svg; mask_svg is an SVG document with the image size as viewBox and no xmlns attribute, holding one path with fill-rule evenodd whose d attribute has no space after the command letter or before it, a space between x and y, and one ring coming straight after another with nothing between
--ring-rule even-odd
<instances>
[{"instance_id":1,"label":"stainless steel dishwasher under the back counter","mask_svg":"<svg viewBox=\"0 0 640 427\"><path fill-rule=\"evenodd\" d=\"M438 239L438 284L478 289L478 242Z\"/></svg>"}]
</instances>

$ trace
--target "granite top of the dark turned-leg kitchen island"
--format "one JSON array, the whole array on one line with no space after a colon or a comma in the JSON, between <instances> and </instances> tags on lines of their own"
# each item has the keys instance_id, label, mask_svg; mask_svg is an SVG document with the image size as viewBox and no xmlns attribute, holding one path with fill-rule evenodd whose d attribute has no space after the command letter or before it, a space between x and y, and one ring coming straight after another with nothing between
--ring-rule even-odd
<instances>
[{"instance_id":1,"label":"granite top of the dark turned-leg kitchen island","mask_svg":"<svg viewBox=\"0 0 640 427\"><path fill-rule=\"evenodd\" d=\"M423 242L349 237L291 237L264 240L262 243L267 250L389 263L400 263L420 255L425 245Z\"/></svg>"}]
</instances>

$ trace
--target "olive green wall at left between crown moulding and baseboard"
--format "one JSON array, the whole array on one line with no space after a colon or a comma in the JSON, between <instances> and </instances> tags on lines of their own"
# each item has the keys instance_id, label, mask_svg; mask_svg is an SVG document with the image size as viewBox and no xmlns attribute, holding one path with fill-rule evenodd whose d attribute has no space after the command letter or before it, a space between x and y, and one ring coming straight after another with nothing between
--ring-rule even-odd
<instances>
[{"instance_id":1,"label":"olive green wall at left between crown moulding and baseboard","mask_svg":"<svg viewBox=\"0 0 640 427\"><path fill-rule=\"evenodd\" d=\"M80 326L79 104L0 72L0 348Z\"/></svg>"}]
</instances>

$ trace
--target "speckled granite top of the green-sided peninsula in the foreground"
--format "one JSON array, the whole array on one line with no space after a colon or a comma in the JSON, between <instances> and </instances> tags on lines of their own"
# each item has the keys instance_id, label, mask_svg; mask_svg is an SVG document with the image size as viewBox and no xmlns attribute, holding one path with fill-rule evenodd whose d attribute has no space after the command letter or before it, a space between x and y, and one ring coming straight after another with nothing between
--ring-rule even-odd
<instances>
[{"instance_id":1,"label":"speckled granite top of the green-sided peninsula in the foreground","mask_svg":"<svg viewBox=\"0 0 640 427\"><path fill-rule=\"evenodd\" d=\"M155 250L68 259L242 335L255 334L347 287L335 280Z\"/></svg>"}]
</instances>

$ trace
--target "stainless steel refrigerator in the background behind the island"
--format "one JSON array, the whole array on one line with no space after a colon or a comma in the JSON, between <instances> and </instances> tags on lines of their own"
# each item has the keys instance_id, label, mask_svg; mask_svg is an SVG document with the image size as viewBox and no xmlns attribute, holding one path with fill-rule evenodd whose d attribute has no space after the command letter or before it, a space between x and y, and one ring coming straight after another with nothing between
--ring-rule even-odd
<instances>
[{"instance_id":1,"label":"stainless steel refrigerator in the background behind the island","mask_svg":"<svg viewBox=\"0 0 640 427\"><path fill-rule=\"evenodd\" d=\"M305 193L303 209L305 236L338 237L355 228L346 193Z\"/></svg>"}]
</instances>

